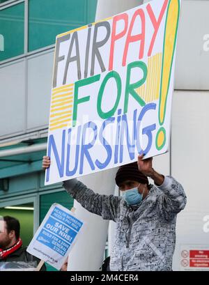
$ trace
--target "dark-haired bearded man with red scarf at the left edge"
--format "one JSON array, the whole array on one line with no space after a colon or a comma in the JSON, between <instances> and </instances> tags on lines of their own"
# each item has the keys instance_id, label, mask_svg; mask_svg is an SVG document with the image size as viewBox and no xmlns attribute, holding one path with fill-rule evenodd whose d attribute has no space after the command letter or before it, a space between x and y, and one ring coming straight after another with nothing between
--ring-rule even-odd
<instances>
[{"instance_id":1,"label":"dark-haired bearded man with red scarf at the left edge","mask_svg":"<svg viewBox=\"0 0 209 285\"><path fill-rule=\"evenodd\" d=\"M15 217L4 216L0 230L0 267L5 262L35 263L37 266L40 259L26 252L26 247L22 247L20 238L20 222ZM45 264L42 271L46 270Z\"/></svg>"}]
</instances>

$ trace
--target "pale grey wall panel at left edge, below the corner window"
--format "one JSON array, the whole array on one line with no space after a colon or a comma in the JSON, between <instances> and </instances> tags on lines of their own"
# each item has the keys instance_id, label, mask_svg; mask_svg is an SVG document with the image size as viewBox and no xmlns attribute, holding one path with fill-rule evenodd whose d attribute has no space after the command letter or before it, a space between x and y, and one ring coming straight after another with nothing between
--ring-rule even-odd
<instances>
[{"instance_id":1,"label":"pale grey wall panel at left edge, below the corner window","mask_svg":"<svg viewBox=\"0 0 209 285\"><path fill-rule=\"evenodd\" d=\"M24 61L0 68L0 137L24 130L24 73Z\"/></svg>"}]
</instances>

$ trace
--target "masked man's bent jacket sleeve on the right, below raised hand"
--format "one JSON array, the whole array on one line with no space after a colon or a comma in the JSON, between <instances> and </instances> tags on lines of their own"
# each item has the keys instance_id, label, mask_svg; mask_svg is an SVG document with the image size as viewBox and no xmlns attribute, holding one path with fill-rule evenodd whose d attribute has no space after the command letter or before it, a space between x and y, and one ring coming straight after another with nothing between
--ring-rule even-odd
<instances>
[{"instance_id":1,"label":"masked man's bent jacket sleeve on the right, below raised hand","mask_svg":"<svg viewBox=\"0 0 209 285\"><path fill-rule=\"evenodd\" d=\"M157 198L158 215L169 222L185 208L187 197L183 186L173 177L165 176L164 183L157 187L162 191Z\"/></svg>"}]
</instances>

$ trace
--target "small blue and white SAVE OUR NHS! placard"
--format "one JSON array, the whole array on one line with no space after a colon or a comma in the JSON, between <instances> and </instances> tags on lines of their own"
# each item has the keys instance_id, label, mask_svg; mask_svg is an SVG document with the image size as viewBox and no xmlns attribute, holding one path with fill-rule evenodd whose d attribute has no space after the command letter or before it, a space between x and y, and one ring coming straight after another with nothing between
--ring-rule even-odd
<instances>
[{"instance_id":1,"label":"small blue and white SAVE OUR NHS! placard","mask_svg":"<svg viewBox=\"0 0 209 285\"><path fill-rule=\"evenodd\" d=\"M72 211L54 203L31 240L27 252L59 270L83 224Z\"/></svg>"}]
</instances>

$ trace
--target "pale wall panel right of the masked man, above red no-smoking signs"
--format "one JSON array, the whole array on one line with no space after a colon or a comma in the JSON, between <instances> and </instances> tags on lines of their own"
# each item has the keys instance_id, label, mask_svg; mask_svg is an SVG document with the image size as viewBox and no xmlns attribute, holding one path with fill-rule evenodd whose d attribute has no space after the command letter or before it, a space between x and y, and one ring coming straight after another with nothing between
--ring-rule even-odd
<instances>
[{"instance_id":1,"label":"pale wall panel right of the masked man, above red no-smoking signs","mask_svg":"<svg viewBox=\"0 0 209 285\"><path fill-rule=\"evenodd\" d=\"M177 91L173 96L171 174L182 183L187 206L177 219L173 270L180 268L181 245L209 246L203 217L209 215L209 92Z\"/></svg>"}]
</instances>

